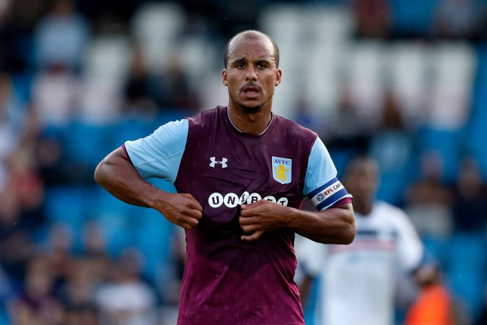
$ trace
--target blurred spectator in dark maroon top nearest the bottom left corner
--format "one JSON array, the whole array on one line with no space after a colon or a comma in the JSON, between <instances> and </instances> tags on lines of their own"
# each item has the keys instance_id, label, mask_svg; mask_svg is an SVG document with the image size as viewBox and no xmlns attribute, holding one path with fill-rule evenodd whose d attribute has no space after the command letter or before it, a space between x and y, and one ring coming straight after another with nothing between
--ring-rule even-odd
<instances>
[{"instance_id":1,"label":"blurred spectator in dark maroon top nearest the bottom left corner","mask_svg":"<svg viewBox=\"0 0 487 325\"><path fill-rule=\"evenodd\" d=\"M61 325L63 310L52 296L52 265L43 256L29 262L24 288L10 305L13 324Z\"/></svg>"}]
</instances>

